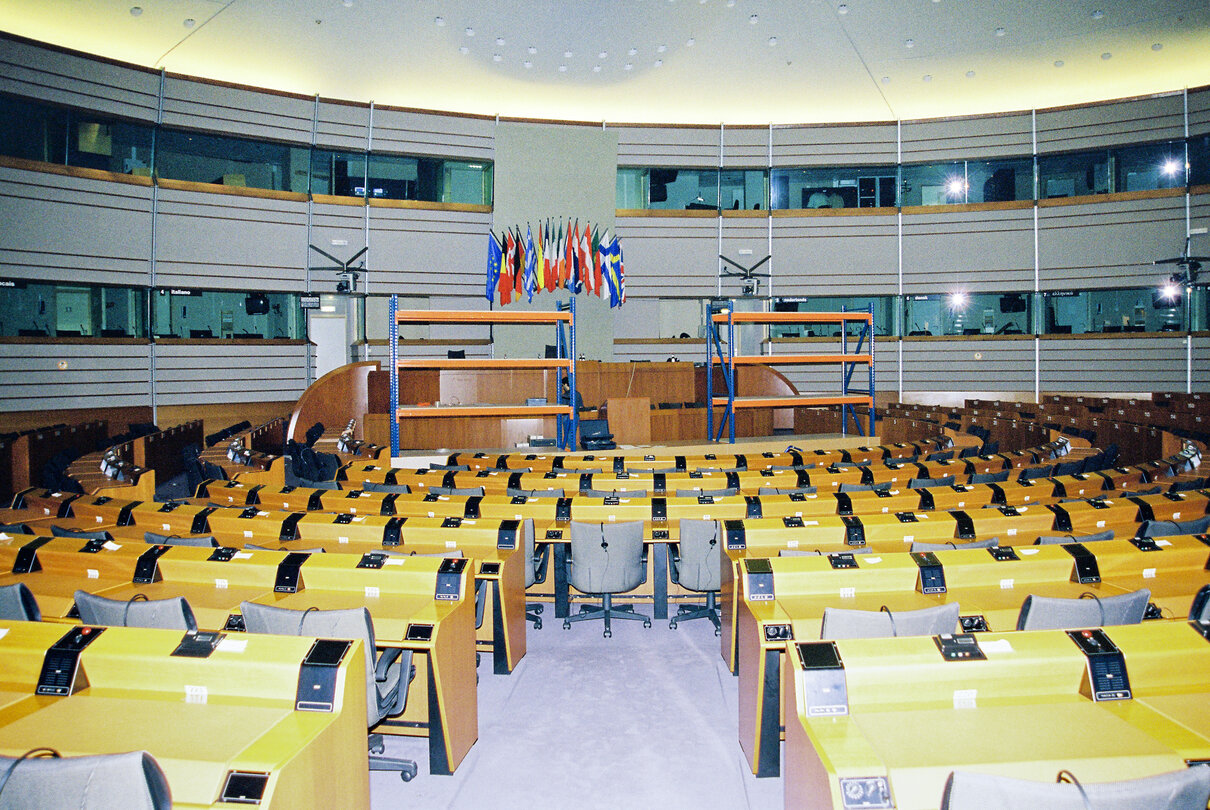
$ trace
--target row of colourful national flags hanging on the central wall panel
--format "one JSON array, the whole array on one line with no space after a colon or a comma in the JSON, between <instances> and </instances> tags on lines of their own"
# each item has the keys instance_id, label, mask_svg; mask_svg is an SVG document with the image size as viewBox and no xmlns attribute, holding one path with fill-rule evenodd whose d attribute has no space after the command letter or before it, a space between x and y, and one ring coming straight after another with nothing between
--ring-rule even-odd
<instances>
[{"instance_id":1,"label":"row of colourful national flags hanging on the central wall panel","mask_svg":"<svg viewBox=\"0 0 1210 810\"><path fill-rule=\"evenodd\" d=\"M535 232L536 230L536 232ZM626 300L622 243L609 229L578 219L547 219L488 234L488 300L528 301L543 292L595 294L621 306Z\"/></svg>"}]
</instances>

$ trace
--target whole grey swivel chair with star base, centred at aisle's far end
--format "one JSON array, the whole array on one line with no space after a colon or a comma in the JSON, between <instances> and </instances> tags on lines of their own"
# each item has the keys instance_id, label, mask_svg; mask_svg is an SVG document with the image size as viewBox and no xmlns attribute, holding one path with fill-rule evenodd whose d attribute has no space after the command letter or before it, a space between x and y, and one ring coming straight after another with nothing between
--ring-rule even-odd
<instances>
[{"instance_id":1,"label":"whole grey swivel chair with star base, centred at aisle's far end","mask_svg":"<svg viewBox=\"0 0 1210 810\"><path fill-rule=\"evenodd\" d=\"M584 593L600 596L601 604L582 604L580 613L563 620L571 630L574 621L603 619L605 638L613 634L611 619L630 619L651 627L651 619L635 613L634 605L613 607L613 594L633 591L647 579L647 552L643 545L643 522L580 523L571 522L571 553L567 555L567 580Z\"/></svg>"}]
</instances>

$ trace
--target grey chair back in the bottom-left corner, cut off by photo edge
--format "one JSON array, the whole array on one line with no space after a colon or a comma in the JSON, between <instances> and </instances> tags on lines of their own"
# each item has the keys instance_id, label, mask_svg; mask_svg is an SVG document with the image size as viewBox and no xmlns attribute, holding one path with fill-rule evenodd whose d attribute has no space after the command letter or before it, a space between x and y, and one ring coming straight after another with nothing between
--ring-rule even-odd
<instances>
[{"instance_id":1,"label":"grey chair back in the bottom-left corner, cut off by photo edge","mask_svg":"<svg viewBox=\"0 0 1210 810\"><path fill-rule=\"evenodd\" d=\"M0 757L0 809L18 808L171 810L172 793L145 751L59 757L36 748L22 758Z\"/></svg>"}]
</instances>

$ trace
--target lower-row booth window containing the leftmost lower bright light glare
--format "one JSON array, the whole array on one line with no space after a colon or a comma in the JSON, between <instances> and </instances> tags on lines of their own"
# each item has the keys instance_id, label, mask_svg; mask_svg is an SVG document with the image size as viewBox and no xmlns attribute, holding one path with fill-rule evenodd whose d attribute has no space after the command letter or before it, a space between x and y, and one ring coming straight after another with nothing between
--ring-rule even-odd
<instances>
[{"instance_id":1,"label":"lower-row booth window containing the leftmost lower bright light glare","mask_svg":"<svg viewBox=\"0 0 1210 810\"><path fill-rule=\"evenodd\" d=\"M1030 293L932 293L908 295L909 337L945 334L1030 334Z\"/></svg>"}]
</instances>

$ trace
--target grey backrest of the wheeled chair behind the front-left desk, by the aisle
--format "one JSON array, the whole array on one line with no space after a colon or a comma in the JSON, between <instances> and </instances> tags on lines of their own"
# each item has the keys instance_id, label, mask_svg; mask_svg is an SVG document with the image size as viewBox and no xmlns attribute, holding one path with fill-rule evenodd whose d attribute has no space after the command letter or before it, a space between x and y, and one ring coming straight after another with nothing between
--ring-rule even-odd
<instances>
[{"instance_id":1,"label":"grey backrest of the wheeled chair behind the front-left desk, by the aisle","mask_svg":"<svg viewBox=\"0 0 1210 810\"><path fill-rule=\"evenodd\" d=\"M392 700L380 694L374 678L374 621L365 608L344 610L290 610L255 602L242 602L240 613L249 633L315 636L362 642L365 655L365 726L386 717Z\"/></svg>"}]
</instances>

